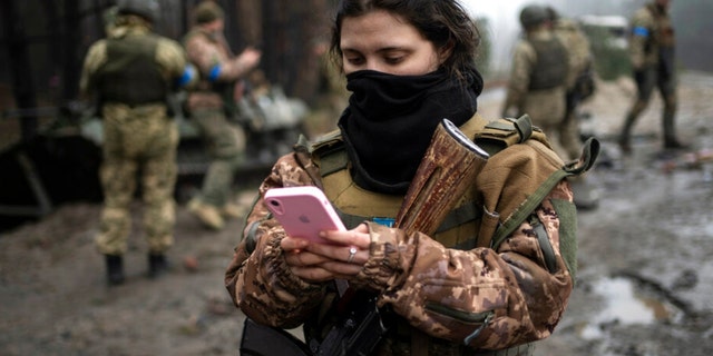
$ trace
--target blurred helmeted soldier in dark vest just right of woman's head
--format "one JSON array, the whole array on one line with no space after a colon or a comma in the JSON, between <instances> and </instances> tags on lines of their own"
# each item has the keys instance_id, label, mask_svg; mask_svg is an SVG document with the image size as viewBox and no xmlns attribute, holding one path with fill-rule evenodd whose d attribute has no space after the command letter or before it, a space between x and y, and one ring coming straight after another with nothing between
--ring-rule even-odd
<instances>
[{"instance_id":1,"label":"blurred helmeted soldier in dark vest just right of woman's head","mask_svg":"<svg viewBox=\"0 0 713 356\"><path fill-rule=\"evenodd\" d=\"M547 8L526 6L520 11L520 24L525 38L515 48L502 116L529 115L555 151L566 157L559 129L565 117L567 51L551 30Z\"/></svg>"}]
</instances>

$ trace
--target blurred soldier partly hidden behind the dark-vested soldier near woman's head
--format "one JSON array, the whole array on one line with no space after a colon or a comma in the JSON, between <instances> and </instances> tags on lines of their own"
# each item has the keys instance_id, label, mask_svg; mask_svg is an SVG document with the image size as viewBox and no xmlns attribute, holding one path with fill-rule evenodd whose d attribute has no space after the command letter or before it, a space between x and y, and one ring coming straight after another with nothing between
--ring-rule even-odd
<instances>
[{"instance_id":1,"label":"blurred soldier partly hidden behind the dark-vested soldier near woman's head","mask_svg":"<svg viewBox=\"0 0 713 356\"><path fill-rule=\"evenodd\" d=\"M565 117L559 126L559 140L565 161L575 160L582 151L579 130L579 105L594 95L594 55L589 40L579 26L561 17L553 7L547 7L555 36L567 50L568 71L565 80ZM580 209L592 209L598 205L597 190L586 180L586 176L572 177L572 189L575 192L575 205Z\"/></svg>"}]
</instances>

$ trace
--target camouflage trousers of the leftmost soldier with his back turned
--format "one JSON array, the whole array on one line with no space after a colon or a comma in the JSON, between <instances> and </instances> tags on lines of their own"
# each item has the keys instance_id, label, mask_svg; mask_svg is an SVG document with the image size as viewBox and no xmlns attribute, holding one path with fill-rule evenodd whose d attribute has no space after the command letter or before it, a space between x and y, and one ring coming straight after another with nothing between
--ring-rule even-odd
<instances>
[{"instance_id":1,"label":"camouflage trousers of the leftmost soldier with his back turned","mask_svg":"<svg viewBox=\"0 0 713 356\"><path fill-rule=\"evenodd\" d=\"M176 219L176 122L166 117L163 105L105 105L102 116L104 209L97 248L105 255L126 253L131 227L129 207L140 172L144 234L150 253L164 253L174 243Z\"/></svg>"}]
</instances>

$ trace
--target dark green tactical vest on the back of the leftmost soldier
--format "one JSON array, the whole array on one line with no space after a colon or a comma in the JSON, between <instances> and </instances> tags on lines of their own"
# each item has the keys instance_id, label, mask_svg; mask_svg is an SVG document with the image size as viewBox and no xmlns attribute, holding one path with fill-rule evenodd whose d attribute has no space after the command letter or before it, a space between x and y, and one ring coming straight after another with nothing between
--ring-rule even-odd
<instances>
[{"instance_id":1,"label":"dark green tactical vest on the back of the leftmost soldier","mask_svg":"<svg viewBox=\"0 0 713 356\"><path fill-rule=\"evenodd\" d=\"M158 36L107 39L107 63L99 70L98 91L102 102L130 106L163 102L168 83L156 62Z\"/></svg>"}]
</instances>

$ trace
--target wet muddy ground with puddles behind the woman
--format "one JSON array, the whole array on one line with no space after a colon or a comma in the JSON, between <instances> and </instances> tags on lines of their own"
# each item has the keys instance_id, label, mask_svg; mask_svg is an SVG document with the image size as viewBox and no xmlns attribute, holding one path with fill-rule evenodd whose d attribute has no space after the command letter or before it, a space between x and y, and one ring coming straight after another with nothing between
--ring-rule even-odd
<instances>
[{"instance_id":1,"label":"wet muddy ground with puddles behind the woman","mask_svg":"<svg viewBox=\"0 0 713 356\"><path fill-rule=\"evenodd\" d=\"M636 126L634 155L621 157L613 135L628 107L628 80L600 83L585 105L586 131L603 144L589 175L597 209L579 215L579 274L564 319L537 355L710 355L713 353L713 162L690 152L713 149L713 76L682 77L680 134L690 150L665 152L660 100ZM501 92L481 98L486 117ZM248 205L254 185L236 199ZM140 205L136 206L137 221ZM92 246L99 206L71 204L39 222L0 235L1 355L236 355L242 315L223 271L242 221L204 230L177 212L170 273L149 280L136 227L128 280L107 288ZM186 259L197 260L195 268Z\"/></svg>"}]
</instances>

